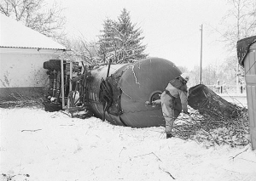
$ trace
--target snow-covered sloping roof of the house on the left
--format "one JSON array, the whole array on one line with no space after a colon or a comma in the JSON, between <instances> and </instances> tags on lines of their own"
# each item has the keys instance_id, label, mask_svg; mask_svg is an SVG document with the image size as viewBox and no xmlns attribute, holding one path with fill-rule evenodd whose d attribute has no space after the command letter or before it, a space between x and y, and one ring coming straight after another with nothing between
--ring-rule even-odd
<instances>
[{"instance_id":1,"label":"snow-covered sloping roof of the house on the left","mask_svg":"<svg viewBox=\"0 0 256 181\"><path fill-rule=\"evenodd\" d=\"M63 45L0 13L0 48L66 49Z\"/></svg>"}]
</instances>

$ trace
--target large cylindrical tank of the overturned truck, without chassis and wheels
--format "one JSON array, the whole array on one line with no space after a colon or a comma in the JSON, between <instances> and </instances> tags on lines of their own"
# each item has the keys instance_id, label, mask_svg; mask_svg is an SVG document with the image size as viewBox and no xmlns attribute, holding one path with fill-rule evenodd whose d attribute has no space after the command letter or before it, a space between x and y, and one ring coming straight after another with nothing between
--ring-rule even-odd
<instances>
[{"instance_id":1,"label":"large cylindrical tank of the overturned truck, without chassis and wheels","mask_svg":"<svg viewBox=\"0 0 256 181\"><path fill-rule=\"evenodd\" d=\"M111 87L111 106L106 112L106 120L116 125L129 127L164 126L160 106L145 105L146 101L160 99L169 81L180 76L181 71L171 61L160 58L148 58L132 64L111 65L109 77L106 78L108 66L91 71L91 109L95 116L103 115L100 102L100 85L108 81ZM180 105L180 99L178 99ZM181 111L178 106L176 115Z\"/></svg>"}]
</instances>

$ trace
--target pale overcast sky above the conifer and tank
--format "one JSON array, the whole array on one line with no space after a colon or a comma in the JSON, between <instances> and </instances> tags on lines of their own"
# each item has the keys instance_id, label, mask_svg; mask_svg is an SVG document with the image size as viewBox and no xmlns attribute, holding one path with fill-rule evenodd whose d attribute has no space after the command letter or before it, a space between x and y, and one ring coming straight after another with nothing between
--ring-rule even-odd
<instances>
[{"instance_id":1,"label":"pale overcast sky above the conifer and tank","mask_svg":"<svg viewBox=\"0 0 256 181\"><path fill-rule=\"evenodd\" d=\"M103 20L117 20L126 8L131 22L143 30L149 56L169 59L192 69L200 65L203 24L203 66L219 64L224 44L213 31L227 14L225 0L59 0L65 8L70 36L97 40Z\"/></svg>"}]
</instances>

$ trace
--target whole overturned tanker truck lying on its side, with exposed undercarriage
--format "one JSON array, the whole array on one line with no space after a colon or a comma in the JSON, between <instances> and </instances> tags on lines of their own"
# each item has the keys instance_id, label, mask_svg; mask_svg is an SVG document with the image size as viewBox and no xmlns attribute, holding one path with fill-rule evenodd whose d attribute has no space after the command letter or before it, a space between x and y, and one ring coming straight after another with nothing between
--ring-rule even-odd
<instances>
[{"instance_id":1,"label":"whole overturned tanker truck lying on its side, with exposed undercarriage","mask_svg":"<svg viewBox=\"0 0 256 181\"><path fill-rule=\"evenodd\" d=\"M167 83L182 73L172 61L148 58L130 64L102 65L97 69L83 65L84 72L72 77L67 71L68 67L73 70L72 65L65 61L61 65L61 60L57 61L58 68L49 69L47 62L44 65L53 84L49 86L45 107L60 104L67 110L79 107L102 120L129 127L165 125L160 107L146 106L145 102L160 99ZM179 98L177 105L176 116L182 110Z\"/></svg>"}]
</instances>

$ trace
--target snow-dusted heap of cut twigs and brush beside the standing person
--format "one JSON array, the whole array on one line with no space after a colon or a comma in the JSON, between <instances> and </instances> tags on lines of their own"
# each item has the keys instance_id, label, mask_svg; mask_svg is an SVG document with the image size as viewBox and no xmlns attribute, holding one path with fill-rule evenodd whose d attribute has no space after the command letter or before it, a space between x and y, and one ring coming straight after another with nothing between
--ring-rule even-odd
<instances>
[{"instance_id":1,"label":"snow-dusted heap of cut twigs and brush beside the standing person","mask_svg":"<svg viewBox=\"0 0 256 181\"><path fill-rule=\"evenodd\" d=\"M249 144L249 122L247 110L241 108L236 118L201 115L192 110L188 117L178 117L173 133L181 139L193 139L207 147L229 144L231 147Z\"/></svg>"}]
</instances>

